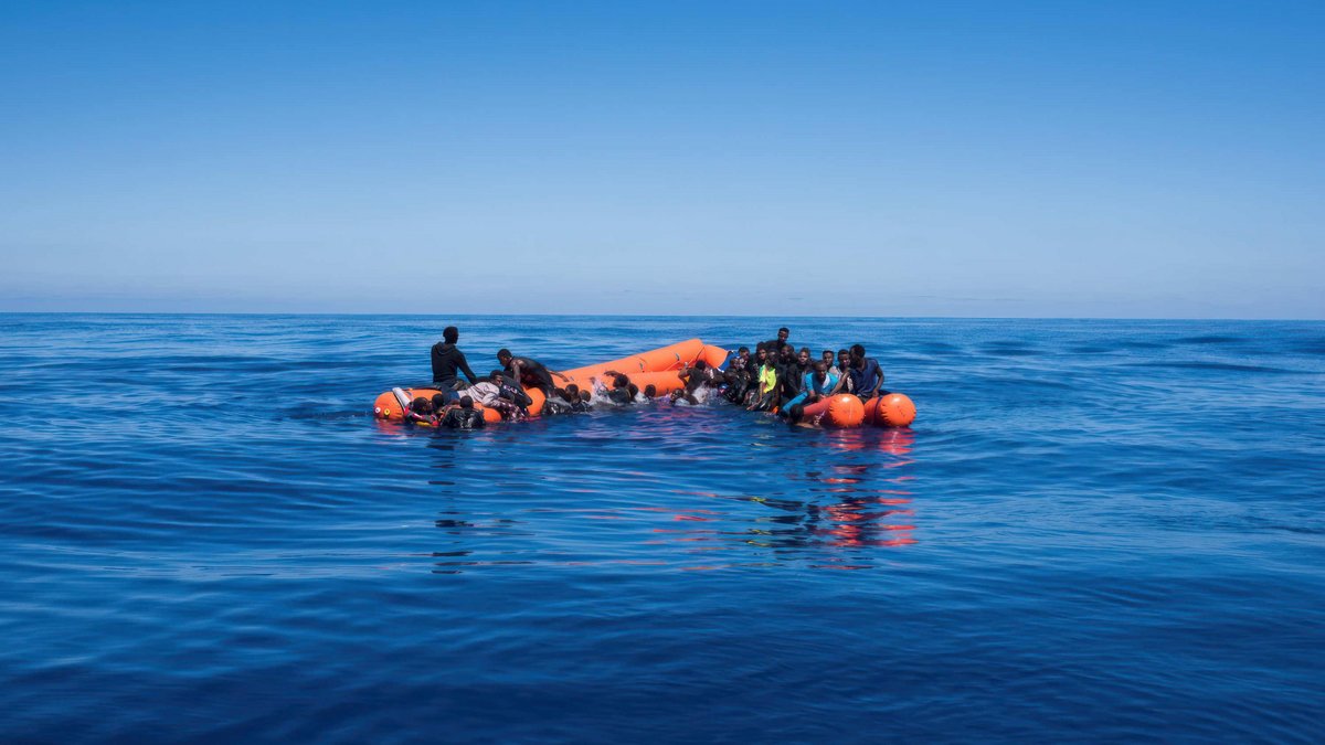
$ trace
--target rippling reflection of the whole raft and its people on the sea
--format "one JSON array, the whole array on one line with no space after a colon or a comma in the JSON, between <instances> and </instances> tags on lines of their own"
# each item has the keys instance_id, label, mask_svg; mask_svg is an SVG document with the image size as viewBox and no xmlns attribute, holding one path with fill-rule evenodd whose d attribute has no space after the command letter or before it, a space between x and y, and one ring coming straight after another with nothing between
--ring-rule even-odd
<instances>
[{"instance_id":1,"label":"rippling reflection of the whole raft and its people on the sea","mask_svg":"<svg viewBox=\"0 0 1325 745\"><path fill-rule=\"evenodd\" d=\"M917 542L912 430L755 423L733 444L723 414L666 407L437 433L425 471L443 541L435 533L433 550L411 555L443 574L871 569ZM623 428L620 416L648 420ZM501 455L534 439L542 457Z\"/></svg>"}]
</instances>

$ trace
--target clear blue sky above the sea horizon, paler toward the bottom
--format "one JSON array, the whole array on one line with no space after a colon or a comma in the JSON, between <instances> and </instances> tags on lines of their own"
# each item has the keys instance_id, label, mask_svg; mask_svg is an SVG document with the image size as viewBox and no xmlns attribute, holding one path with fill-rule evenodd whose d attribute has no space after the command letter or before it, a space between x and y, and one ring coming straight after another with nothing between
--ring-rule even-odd
<instances>
[{"instance_id":1,"label":"clear blue sky above the sea horizon, paler toward the bottom","mask_svg":"<svg viewBox=\"0 0 1325 745\"><path fill-rule=\"evenodd\" d=\"M1325 318L1321 3L5 3L0 310Z\"/></svg>"}]
</instances>

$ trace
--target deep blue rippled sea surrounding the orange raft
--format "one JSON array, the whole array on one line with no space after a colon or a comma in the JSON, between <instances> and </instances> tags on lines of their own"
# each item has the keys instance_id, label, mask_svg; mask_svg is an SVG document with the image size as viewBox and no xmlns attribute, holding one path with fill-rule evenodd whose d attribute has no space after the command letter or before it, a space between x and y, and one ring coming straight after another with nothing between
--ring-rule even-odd
<instances>
[{"instance_id":1,"label":"deep blue rippled sea surrounding the orange raft","mask_svg":"<svg viewBox=\"0 0 1325 745\"><path fill-rule=\"evenodd\" d=\"M863 342L910 430L375 423ZM0 741L1321 741L1325 323L0 315Z\"/></svg>"}]
</instances>

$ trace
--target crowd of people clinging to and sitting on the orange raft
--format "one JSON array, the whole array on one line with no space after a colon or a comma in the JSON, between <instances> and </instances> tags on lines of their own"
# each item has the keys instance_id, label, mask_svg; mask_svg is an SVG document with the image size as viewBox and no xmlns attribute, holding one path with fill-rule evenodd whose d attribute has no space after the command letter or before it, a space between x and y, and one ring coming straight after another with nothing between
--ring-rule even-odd
<instances>
[{"instance_id":1,"label":"crowd of people clinging to and sitting on the orange raft","mask_svg":"<svg viewBox=\"0 0 1325 745\"><path fill-rule=\"evenodd\" d=\"M739 347L722 369L704 361L686 365L677 371L682 387L660 395L655 386L640 388L629 375L615 370L606 371L602 379L591 378L592 390L584 390L562 372L535 359L515 357L506 349L497 353L501 367L478 378L456 346L460 330L448 326L443 341L432 347L432 380L440 392L415 398L407 420L474 430L484 426L482 411L474 408L476 404L497 411L502 419L522 419L530 415L529 407L534 403L526 387L543 392L546 400L539 414L545 416L590 411L603 400L616 406L694 406L721 395L749 411L775 412L791 424L803 424L804 407L825 396L852 394L869 400L888 394L882 390L884 372L874 358L865 355L864 346L857 343L836 353L825 349L816 358L810 347L796 350L790 337L790 329L778 329L776 338L757 343L753 354L750 347ZM558 386L556 378L566 384Z\"/></svg>"}]
</instances>

